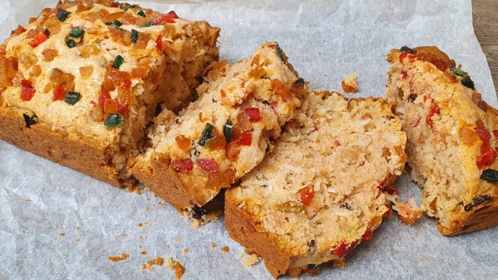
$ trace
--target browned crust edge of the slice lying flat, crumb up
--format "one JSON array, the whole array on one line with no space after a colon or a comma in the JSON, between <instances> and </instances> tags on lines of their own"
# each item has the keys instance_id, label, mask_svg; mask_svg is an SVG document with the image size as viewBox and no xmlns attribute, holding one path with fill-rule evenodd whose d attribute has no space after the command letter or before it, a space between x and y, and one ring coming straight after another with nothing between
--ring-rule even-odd
<instances>
[{"instance_id":1,"label":"browned crust edge of the slice lying flat, crumb up","mask_svg":"<svg viewBox=\"0 0 498 280\"><path fill-rule=\"evenodd\" d=\"M227 192L228 193L228 192ZM282 252L264 231L258 231L244 210L232 203L230 195L225 196L225 227L230 237L256 252L264 259L268 272L276 279L289 270L291 256ZM301 270L299 270L298 275Z\"/></svg>"}]
</instances>

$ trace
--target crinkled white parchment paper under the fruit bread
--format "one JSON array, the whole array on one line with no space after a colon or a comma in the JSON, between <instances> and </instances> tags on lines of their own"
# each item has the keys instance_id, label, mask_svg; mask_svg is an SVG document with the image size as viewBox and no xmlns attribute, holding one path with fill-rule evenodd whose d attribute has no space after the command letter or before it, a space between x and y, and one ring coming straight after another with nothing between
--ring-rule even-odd
<instances>
[{"instance_id":1,"label":"crinkled white parchment paper under the fruit bread","mask_svg":"<svg viewBox=\"0 0 498 280\"><path fill-rule=\"evenodd\" d=\"M55 2L3 0L0 37ZM229 62L276 40L318 89L340 90L341 80L356 71L358 96L383 95L389 49L437 45L464 66L489 104L498 105L473 32L470 0L141 4L221 27L221 58ZM396 184L402 195L418 200L420 191L406 175ZM271 279L262 262L251 268L242 264L243 248L229 238L223 219L194 230L160 203L150 192L128 193L0 140L0 279L174 279L166 267L140 274L142 264L157 256L179 260L186 268L183 279ZM370 244L347 256L345 269L327 266L319 276L302 278L496 279L497 238L498 228L442 237L432 219L407 227L393 216ZM223 246L230 252L222 252ZM122 253L127 260L108 260Z\"/></svg>"}]
</instances>

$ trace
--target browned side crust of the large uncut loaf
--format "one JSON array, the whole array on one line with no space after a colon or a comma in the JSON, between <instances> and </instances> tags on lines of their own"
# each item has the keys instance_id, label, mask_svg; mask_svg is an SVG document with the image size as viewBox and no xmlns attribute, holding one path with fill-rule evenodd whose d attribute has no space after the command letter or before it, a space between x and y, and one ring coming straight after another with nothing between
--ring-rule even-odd
<instances>
[{"instance_id":1,"label":"browned side crust of the large uncut loaf","mask_svg":"<svg viewBox=\"0 0 498 280\"><path fill-rule=\"evenodd\" d=\"M53 132L46 124L29 128L22 110L0 108L0 139L115 186L130 186L134 178L122 179L119 170L109 164L106 147L86 140L68 139Z\"/></svg>"}]
</instances>

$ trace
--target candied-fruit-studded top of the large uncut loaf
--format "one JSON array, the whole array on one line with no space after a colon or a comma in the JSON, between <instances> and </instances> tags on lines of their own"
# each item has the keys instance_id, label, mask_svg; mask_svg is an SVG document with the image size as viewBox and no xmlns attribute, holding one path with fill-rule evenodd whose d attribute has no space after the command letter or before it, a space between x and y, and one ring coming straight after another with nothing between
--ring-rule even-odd
<instances>
[{"instance_id":1,"label":"candied-fruit-studded top of the large uncut loaf","mask_svg":"<svg viewBox=\"0 0 498 280\"><path fill-rule=\"evenodd\" d=\"M168 60L182 60L187 33L219 32L174 12L102 2L107 5L59 3L13 31L0 47L2 107L27 109L55 131L105 146L134 129L122 122L139 118L148 104L155 106L158 98L151 90L162 72L155 70ZM190 55L202 52L199 46ZM152 72L154 77L148 76Z\"/></svg>"}]
</instances>

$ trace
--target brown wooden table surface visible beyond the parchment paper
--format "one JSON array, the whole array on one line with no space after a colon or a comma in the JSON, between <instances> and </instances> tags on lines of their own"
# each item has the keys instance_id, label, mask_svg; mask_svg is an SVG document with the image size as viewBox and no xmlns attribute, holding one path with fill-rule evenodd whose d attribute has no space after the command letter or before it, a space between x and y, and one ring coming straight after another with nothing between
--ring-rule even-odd
<instances>
[{"instance_id":1,"label":"brown wooden table surface visible beyond the parchment paper","mask_svg":"<svg viewBox=\"0 0 498 280\"><path fill-rule=\"evenodd\" d=\"M472 15L474 32L488 58L498 91L498 0L473 0Z\"/></svg>"}]
</instances>

